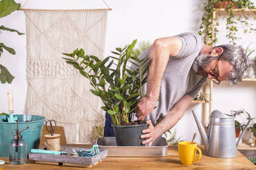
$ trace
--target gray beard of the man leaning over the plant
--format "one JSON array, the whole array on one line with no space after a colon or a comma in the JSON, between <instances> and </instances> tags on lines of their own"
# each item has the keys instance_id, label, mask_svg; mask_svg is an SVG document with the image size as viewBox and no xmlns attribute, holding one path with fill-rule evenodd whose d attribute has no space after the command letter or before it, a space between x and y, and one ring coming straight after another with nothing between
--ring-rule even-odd
<instances>
[{"instance_id":1,"label":"gray beard of the man leaning over the plant","mask_svg":"<svg viewBox=\"0 0 256 170\"><path fill-rule=\"evenodd\" d=\"M209 55L207 54L200 54L198 57L195 58L191 69L198 75L202 75L204 72L204 68L211 62Z\"/></svg>"}]
</instances>

